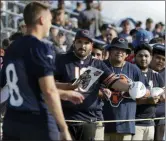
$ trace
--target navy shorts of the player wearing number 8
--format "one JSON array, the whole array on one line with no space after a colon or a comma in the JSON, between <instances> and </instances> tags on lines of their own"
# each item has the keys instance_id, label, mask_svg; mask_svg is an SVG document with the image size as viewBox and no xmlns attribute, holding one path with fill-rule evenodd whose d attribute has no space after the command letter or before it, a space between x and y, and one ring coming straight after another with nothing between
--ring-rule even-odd
<instances>
[{"instance_id":1,"label":"navy shorts of the player wearing number 8","mask_svg":"<svg viewBox=\"0 0 166 141\"><path fill-rule=\"evenodd\" d=\"M59 140L59 130L52 116L34 115L7 110L3 134L9 140ZM11 137L11 139L10 139Z\"/></svg>"}]
</instances>

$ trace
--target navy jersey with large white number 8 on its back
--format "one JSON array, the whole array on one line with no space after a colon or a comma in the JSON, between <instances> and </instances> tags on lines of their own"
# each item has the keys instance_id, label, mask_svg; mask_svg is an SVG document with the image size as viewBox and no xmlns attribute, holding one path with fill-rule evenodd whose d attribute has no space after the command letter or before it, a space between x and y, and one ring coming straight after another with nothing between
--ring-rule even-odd
<instances>
[{"instance_id":1,"label":"navy jersey with large white number 8 on its back","mask_svg":"<svg viewBox=\"0 0 166 141\"><path fill-rule=\"evenodd\" d=\"M54 75L54 58L51 46L30 35L14 41L7 49L1 78L1 87L7 82L10 92L4 120L5 131L9 126L7 121L11 120L32 125L38 123L43 125L43 130L48 130L50 127L47 123L50 123L51 130L58 131L38 82L41 77Z\"/></svg>"}]
</instances>

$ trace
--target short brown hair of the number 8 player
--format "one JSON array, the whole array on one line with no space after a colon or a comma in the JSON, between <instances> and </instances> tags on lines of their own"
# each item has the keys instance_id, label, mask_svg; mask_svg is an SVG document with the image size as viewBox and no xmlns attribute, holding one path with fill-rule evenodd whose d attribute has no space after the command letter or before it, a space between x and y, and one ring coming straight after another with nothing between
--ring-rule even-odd
<instances>
[{"instance_id":1,"label":"short brown hair of the number 8 player","mask_svg":"<svg viewBox=\"0 0 166 141\"><path fill-rule=\"evenodd\" d=\"M49 10L49 5L41 2L31 2L26 5L23 13L25 24L27 26L35 25L41 11L43 10Z\"/></svg>"}]
</instances>

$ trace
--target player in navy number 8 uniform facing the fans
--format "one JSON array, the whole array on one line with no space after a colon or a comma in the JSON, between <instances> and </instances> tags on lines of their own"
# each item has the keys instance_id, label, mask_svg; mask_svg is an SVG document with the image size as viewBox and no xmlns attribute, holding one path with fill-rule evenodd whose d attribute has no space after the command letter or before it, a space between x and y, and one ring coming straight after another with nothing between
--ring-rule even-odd
<instances>
[{"instance_id":1,"label":"player in navy number 8 uniform facing the fans","mask_svg":"<svg viewBox=\"0 0 166 141\"><path fill-rule=\"evenodd\" d=\"M60 98L80 103L83 96L70 90L58 92L56 88L55 54L51 46L41 41L51 27L49 7L29 3L24 9L24 20L27 35L6 50L2 68L1 88L8 87L10 94L3 140L71 140Z\"/></svg>"}]
</instances>

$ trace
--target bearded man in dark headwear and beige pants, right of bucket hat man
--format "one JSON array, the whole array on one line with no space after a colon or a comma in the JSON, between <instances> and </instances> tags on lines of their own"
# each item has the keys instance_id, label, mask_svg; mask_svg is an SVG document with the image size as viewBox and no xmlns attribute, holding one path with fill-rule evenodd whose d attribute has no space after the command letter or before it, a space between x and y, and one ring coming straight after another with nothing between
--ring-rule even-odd
<instances>
[{"instance_id":1,"label":"bearded man in dark headwear and beige pants, right of bucket hat man","mask_svg":"<svg viewBox=\"0 0 166 141\"><path fill-rule=\"evenodd\" d=\"M162 76L149 68L149 64L152 59L152 48L149 44L144 43L139 45L135 50L135 62L136 65L142 71L142 75L145 76L146 82L150 89L153 87L164 87L164 81ZM160 96L155 96L137 100L136 119L148 119L155 118L156 116L156 104L160 101ZM138 121L136 122L136 132L132 137L133 141L146 140L153 141L155 133L155 122L153 120Z\"/></svg>"}]
</instances>

